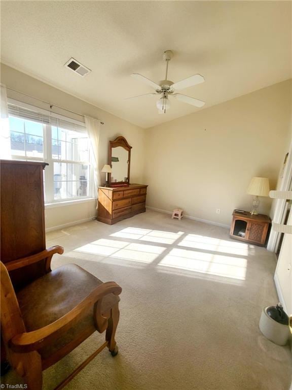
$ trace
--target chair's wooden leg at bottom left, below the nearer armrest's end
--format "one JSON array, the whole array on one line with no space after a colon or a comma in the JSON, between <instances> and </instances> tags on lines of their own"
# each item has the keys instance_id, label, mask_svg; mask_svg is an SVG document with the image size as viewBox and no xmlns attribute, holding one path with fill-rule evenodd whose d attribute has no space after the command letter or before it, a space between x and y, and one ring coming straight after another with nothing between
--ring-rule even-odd
<instances>
[{"instance_id":1,"label":"chair's wooden leg at bottom left, below the nearer armrest's end","mask_svg":"<svg viewBox=\"0 0 292 390\"><path fill-rule=\"evenodd\" d=\"M42 390L42 359L38 352L15 353L15 371L23 378L28 390Z\"/></svg>"}]
</instances>

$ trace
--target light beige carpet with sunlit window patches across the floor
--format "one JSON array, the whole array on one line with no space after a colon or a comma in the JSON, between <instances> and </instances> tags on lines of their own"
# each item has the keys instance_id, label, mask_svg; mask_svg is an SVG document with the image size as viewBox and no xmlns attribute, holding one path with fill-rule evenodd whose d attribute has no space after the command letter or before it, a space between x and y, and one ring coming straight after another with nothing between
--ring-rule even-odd
<instances>
[{"instance_id":1,"label":"light beige carpet with sunlit window patches across the floor","mask_svg":"<svg viewBox=\"0 0 292 390\"><path fill-rule=\"evenodd\" d=\"M258 328L277 302L276 260L229 232L147 211L113 226L92 221L47 235L62 245L52 267L76 263L119 283L116 358L104 349L66 389L288 390L289 347ZM77 367L103 335L95 334L44 372L49 390ZM4 382L20 383L14 373Z\"/></svg>"}]
</instances>

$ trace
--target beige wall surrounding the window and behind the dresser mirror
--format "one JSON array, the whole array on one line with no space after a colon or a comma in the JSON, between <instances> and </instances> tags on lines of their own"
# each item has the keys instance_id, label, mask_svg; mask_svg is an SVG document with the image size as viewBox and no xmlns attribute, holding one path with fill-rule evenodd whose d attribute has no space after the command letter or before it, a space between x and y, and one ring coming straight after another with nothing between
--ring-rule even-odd
<instances>
[{"instance_id":1,"label":"beige wall surrounding the window and behind the dresser mirror","mask_svg":"<svg viewBox=\"0 0 292 390\"><path fill-rule=\"evenodd\" d=\"M101 127L100 151L99 151L99 168L107 164L108 141L114 140L117 136L124 136L132 146L131 150L131 177L132 183L143 183L144 170L144 141L145 130L123 119L118 118L106 111L103 111L91 104L88 104L75 96L62 92L46 83L36 80L24 73L18 72L4 64L1 64L1 82L8 88L15 89L34 98L50 102L57 106L66 108L70 111L88 115L93 118L99 118L104 122ZM19 93L8 92L8 97L49 109L47 104L43 104L34 99L27 98ZM98 93L98 89L96 90ZM70 114L66 111L58 110L53 107L53 111L81 120L80 116ZM105 174L101 173L101 180L105 181ZM95 203L82 203L74 206L63 206L46 209L46 227L51 229L54 226L69 224L77 220L84 220L93 217L96 214Z\"/></svg>"}]
</instances>

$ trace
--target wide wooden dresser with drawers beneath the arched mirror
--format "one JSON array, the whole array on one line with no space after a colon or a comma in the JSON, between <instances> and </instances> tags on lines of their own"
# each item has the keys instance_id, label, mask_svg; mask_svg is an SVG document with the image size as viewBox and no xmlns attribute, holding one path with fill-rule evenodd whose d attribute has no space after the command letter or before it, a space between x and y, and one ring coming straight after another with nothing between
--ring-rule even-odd
<instances>
[{"instance_id":1,"label":"wide wooden dresser with drawers beneath the arched mirror","mask_svg":"<svg viewBox=\"0 0 292 390\"><path fill-rule=\"evenodd\" d=\"M98 187L97 220L112 225L146 211L147 185Z\"/></svg>"}]
</instances>

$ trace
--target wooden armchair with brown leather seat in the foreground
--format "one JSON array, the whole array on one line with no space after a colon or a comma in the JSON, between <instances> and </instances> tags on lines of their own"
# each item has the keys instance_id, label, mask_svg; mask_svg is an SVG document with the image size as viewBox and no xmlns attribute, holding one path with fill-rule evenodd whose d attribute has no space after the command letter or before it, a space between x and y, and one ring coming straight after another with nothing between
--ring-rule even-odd
<instances>
[{"instance_id":1,"label":"wooden armchair with brown leather seat in the foreground","mask_svg":"<svg viewBox=\"0 0 292 390\"><path fill-rule=\"evenodd\" d=\"M105 333L105 342L56 389L64 387L103 348L115 356L121 287L102 283L75 264L51 271L55 246L29 257L1 262L1 328L7 360L29 390L42 389L42 371L58 362L93 332ZM38 277L19 291L13 272L38 266ZM12 278L10 277L12 276ZM3 347L3 345L2 345Z\"/></svg>"}]
</instances>

